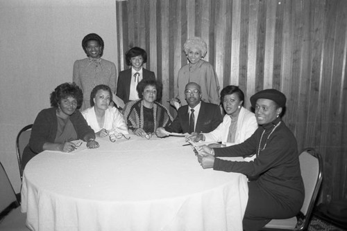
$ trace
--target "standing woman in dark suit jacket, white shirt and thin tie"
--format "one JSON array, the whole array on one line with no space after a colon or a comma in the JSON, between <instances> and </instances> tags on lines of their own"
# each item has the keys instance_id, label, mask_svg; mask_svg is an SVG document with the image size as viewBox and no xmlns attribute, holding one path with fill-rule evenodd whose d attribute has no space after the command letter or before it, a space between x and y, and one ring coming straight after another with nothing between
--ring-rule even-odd
<instances>
[{"instance_id":1,"label":"standing woman in dark suit jacket, white shirt and thin tie","mask_svg":"<svg viewBox=\"0 0 347 231\"><path fill-rule=\"evenodd\" d=\"M154 72L142 67L146 62L146 50L135 46L126 52L126 64L131 68L119 73L116 91L116 95L124 101L124 104L139 100L136 86L142 79L155 80Z\"/></svg>"}]
</instances>

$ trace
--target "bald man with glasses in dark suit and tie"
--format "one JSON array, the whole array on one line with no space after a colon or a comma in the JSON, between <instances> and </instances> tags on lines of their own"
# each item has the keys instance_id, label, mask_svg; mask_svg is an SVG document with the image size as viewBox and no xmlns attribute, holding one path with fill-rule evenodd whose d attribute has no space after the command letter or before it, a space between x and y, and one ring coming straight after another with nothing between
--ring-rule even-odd
<instances>
[{"instance_id":1,"label":"bald man with glasses in dark suit and tie","mask_svg":"<svg viewBox=\"0 0 347 231\"><path fill-rule=\"evenodd\" d=\"M167 136L165 131L175 133L210 132L222 122L221 110L216 104L201 101L201 87L195 82L185 86L188 105L180 107L176 118L167 127L158 127L158 137Z\"/></svg>"}]
</instances>

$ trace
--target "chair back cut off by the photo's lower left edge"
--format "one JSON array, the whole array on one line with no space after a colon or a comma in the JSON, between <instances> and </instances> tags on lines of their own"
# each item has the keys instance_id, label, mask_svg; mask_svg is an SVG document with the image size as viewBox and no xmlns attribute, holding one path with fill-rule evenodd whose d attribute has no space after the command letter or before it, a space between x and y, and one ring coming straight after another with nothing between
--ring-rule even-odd
<instances>
[{"instance_id":1,"label":"chair back cut off by the photo's lower left edge","mask_svg":"<svg viewBox=\"0 0 347 231\"><path fill-rule=\"evenodd\" d=\"M8 179L8 176L0 163L0 220L6 216L13 208L19 206L15 190Z\"/></svg>"}]
</instances>

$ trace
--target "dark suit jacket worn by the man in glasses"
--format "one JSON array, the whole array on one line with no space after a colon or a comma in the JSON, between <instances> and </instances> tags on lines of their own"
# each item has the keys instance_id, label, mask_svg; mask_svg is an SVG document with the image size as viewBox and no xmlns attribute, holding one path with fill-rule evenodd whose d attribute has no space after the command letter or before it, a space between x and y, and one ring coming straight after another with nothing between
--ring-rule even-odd
<instances>
[{"instance_id":1,"label":"dark suit jacket worn by the man in glasses","mask_svg":"<svg viewBox=\"0 0 347 231\"><path fill-rule=\"evenodd\" d=\"M200 111L196 120L196 132L210 132L218 127L222 122L221 109L216 104L201 101ZM177 116L169 126L164 127L169 132L188 133L189 132L189 113L188 105L180 107Z\"/></svg>"}]
</instances>

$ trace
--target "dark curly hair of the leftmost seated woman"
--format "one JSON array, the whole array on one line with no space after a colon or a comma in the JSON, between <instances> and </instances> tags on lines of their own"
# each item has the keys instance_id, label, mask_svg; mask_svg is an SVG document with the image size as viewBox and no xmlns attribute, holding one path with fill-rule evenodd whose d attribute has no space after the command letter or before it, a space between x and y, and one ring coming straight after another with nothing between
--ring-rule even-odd
<instances>
[{"instance_id":1,"label":"dark curly hair of the leftmost seated woman","mask_svg":"<svg viewBox=\"0 0 347 231\"><path fill-rule=\"evenodd\" d=\"M68 97L76 99L77 109L81 109L83 103L83 92L80 87L77 86L74 82L65 82L64 84L60 84L56 87L56 89L54 89L50 97L51 107L58 108L60 100L66 99Z\"/></svg>"}]
</instances>

